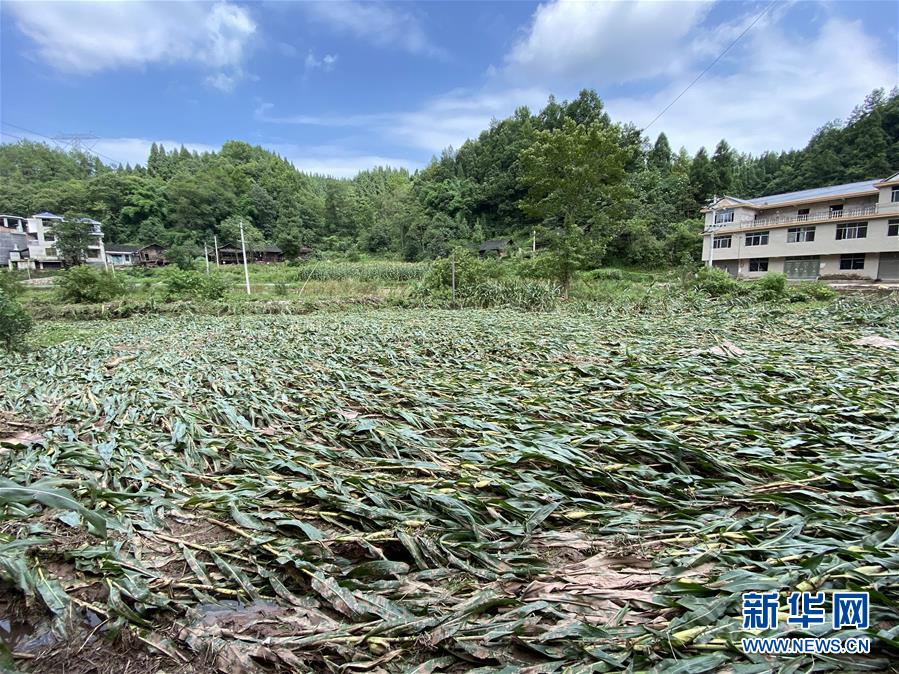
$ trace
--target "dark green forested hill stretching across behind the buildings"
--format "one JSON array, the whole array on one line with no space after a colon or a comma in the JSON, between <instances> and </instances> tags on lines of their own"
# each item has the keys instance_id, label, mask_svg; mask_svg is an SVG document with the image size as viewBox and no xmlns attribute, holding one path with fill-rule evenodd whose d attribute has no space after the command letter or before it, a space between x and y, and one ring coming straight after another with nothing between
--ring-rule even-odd
<instances>
[{"instance_id":1,"label":"dark green forested hill stretching across behind the buildings","mask_svg":"<svg viewBox=\"0 0 899 674\"><path fill-rule=\"evenodd\" d=\"M563 131L569 119L613 126L596 93L583 91L570 102L550 98L536 114L520 108L414 175L375 167L346 180L303 174L238 141L204 154L154 145L146 166L115 168L23 141L0 146L0 212L89 215L104 223L108 240L170 246L227 234L223 223L241 216L288 254L311 245L428 258L538 225L538 216L521 208L522 152L541 133ZM753 157L722 140L711 155L702 148L691 157L673 151L664 134L650 142L628 124L616 137L631 196L611 225L606 256L677 262L695 254L698 210L714 194L752 197L899 170L899 92L873 92L845 123L827 124L790 152Z\"/></svg>"}]
</instances>

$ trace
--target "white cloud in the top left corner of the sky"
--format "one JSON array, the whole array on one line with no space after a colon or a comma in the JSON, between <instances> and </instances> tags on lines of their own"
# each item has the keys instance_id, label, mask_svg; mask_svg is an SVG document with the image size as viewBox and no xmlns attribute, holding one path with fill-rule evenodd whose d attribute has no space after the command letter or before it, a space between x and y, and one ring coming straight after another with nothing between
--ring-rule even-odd
<instances>
[{"instance_id":1,"label":"white cloud in the top left corner of the sky","mask_svg":"<svg viewBox=\"0 0 899 674\"><path fill-rule=\"evenodd\" d=\"M216 71L213 86L243 77L256 32L249 12L227 2L8 2L19 30L54 68L89 74L192 61Z\"/></svg>"}]
</instances>

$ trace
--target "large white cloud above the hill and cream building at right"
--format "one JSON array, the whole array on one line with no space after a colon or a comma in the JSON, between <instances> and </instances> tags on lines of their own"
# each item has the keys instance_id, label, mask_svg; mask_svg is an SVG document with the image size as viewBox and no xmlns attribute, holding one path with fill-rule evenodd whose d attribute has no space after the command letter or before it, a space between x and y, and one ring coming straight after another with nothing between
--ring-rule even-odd
<instances>
[{"instance_id":1,"label":"large white cloud above the hill and cream building at right","mask_svg":"<svg viewBox=\"0 0 899 674\"><path fill-rule=\"evenodd\" d=\"M845 118L872 89L897 81L895 59L883 55L859 21L832 18L810 38L756 26L735 51L739 57L729 67L706 74L648 133L664 131L674 147L691 152L711 149L721 138L756 154L803 147L817 128ZM606 103L614 119L645 125L691 79Z\"/></svg>"}]
</instances>

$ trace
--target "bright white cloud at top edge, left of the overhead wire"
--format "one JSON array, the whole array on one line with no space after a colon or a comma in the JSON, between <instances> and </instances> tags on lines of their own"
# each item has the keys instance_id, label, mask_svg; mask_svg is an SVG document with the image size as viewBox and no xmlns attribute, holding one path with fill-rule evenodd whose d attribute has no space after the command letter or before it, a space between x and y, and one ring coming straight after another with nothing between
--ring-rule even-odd
<instances>
[{"instance_id":1,"label":"bright white cloud at top edge, left of the overhead wire","mask_svg":"<svg viewBox=\"0 0 899 674\"><path fill-rule=\"evenodd\" d=\"M527 34L506 55L513 79L556 86L617 84L669 73L708 2L582 2L540 5Z\"/></svg>"}]
</instances>

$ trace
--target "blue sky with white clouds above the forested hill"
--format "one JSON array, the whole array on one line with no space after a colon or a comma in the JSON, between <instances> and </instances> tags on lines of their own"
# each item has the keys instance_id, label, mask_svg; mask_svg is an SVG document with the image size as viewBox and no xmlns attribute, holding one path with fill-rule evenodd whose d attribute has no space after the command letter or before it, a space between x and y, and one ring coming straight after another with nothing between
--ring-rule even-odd
<instances>
[{"instance_id":1,"label":"blue sky with white clouds above the forested hill","mask_svg":"<svg viewBox=\"0 0 899 674\"><path fill-rule=\"evenodd\" d=\"M767 5L7 0L2 140L90 133L135 163L154 141L240 139L307 171L414 169L550 93L594 88L642 127ZM895 2L779 2L647 133L801 147L896 86L897 18Z\"/></svg>"}]
</instances>

